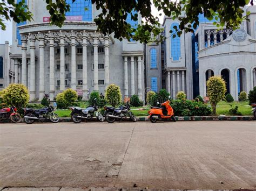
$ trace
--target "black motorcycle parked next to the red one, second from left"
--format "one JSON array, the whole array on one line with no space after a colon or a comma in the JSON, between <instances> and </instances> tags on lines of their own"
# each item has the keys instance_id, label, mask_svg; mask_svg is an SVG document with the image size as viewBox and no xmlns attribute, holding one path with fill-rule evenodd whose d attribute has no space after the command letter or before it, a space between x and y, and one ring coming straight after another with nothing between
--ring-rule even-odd
<instances>
[{"instance_id":1,"label":"black motorcycle parked next to the red one, second from left","mask_svg":"<svg viewBox=\"0 0 256 191\"><path fill-rule=\"evenodd\" d=\"M23 108L23 110L24 121L28 124L31 124L36 120L45 121L46 119L50 119L52 123L59 122L59 116L53 112L54 108L52 106L42 109Z\"/></svg>"}]
</instances>

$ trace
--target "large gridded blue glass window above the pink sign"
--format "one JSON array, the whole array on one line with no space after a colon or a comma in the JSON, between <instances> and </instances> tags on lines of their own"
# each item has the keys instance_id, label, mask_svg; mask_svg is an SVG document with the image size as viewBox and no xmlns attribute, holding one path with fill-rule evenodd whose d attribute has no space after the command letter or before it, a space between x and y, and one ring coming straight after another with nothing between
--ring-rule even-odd
<instances>
[{"instance_id":1,"label":"large gridded blue glass window above the pink sign","mask_svg":"<svg viewBox=\"0 0 256 191\"><path fill-rule=\"evenodd\" d=\"M66 0L70 5L70 11L66 12L66 16L82 16L83 21L92 21L92 2L91 0ZM85 10L87 8L87 10Z\"/></svg>"}]
</instances>

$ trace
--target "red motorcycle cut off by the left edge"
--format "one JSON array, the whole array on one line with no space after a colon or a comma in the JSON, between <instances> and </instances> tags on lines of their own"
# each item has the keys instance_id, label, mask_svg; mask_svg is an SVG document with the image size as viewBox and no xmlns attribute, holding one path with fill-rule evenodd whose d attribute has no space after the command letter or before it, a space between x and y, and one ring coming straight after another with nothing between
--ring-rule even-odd
<instances>
[{"instance_id":1,"label":"red motorcycle cut off by the left edge","mask_svg":"<svg viewBox=\"0 0 256 191\"><path fill-rule=\"evenodd\" d=\"M19 123L22 121L22 117L17 113L17 108L15 106L0 110L0 120L2 121L5 119L10 119L14 123Z\"/></svg>"}]
</instances>

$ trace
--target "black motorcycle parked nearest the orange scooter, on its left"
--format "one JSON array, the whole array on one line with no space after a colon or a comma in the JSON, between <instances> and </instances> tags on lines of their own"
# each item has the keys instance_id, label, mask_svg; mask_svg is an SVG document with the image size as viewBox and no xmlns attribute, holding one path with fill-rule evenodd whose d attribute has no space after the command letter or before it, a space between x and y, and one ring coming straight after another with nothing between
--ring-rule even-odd
<instances>
[{"instance_id":1,"label":"black motorcycle parked nearest the orange scooter, on its left","mask_svg":"<svg viewBox=\"0 0 256 191\"><path fill-rule=\"evenodd\" d=\"M126 117L130 117L133 122L136 122L136 118L131 112L129 101L127 101L125 105L121 105L119 108L104 107L104 110L104 116L106 121L109 123L114 123L116 119L121 121Z\"/></svg>"}]
</instances>

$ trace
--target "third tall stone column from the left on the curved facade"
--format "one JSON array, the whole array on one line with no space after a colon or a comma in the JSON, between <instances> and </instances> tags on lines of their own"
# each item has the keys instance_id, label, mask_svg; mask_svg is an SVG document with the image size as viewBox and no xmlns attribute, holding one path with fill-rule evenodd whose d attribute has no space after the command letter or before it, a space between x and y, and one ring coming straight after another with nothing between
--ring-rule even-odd
<instances>
[{"instance_id":1,"label":"third tall stone column from the left on the curved facade","mask_svg":"<svg viewBox=\"0 0 256 191\"><path fill-rule=\"evenodd\" d=\"M45 33L38 32L39 40L39 100L44 98L44 40Z\"/></svg>"}]
</instances>

